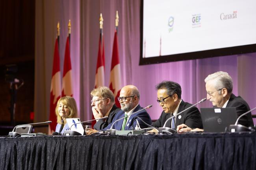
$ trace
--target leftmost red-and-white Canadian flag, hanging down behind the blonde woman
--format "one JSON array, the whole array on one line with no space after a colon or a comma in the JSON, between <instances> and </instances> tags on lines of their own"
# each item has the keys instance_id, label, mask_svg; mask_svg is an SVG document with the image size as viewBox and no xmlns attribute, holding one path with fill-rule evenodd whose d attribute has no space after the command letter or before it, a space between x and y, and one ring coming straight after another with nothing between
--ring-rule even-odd
<instances>
[{"instance_id":1,"label":"leftmost red-and-white Canadian flag, hanging down behind the blonde woman","mask_svg":"<svg viewBox=\"0 0 256 170\"><path fill-rule=\"evenodd\" d=\"M55 108L57 102L61 96L61 78L60 78L60 69L59 69L59 47L58 47L58 38L55 41L54 48L54 58L52 65L52 80L51 80L51 94L50 94L50 117L49 120L50 128L48 134L52 134L55 131L57 125L57 118L55 114Z\"/></svg>"}]
</instances>

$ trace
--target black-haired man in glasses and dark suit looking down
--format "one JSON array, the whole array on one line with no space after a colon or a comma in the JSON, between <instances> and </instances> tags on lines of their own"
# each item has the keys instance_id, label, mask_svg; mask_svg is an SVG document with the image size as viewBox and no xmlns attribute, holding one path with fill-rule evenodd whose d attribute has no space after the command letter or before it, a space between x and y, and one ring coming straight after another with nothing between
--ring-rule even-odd
<instances>
[{"instance_id":1,"label":"black-haired man in glasses and dark suit looking down","mask_svg":"<svg viewBox=\"0 0 256 170\"><path fill-rule=\"evenodd\" d=\"M152 123L152 126L156 128L163 127L169 117L175 116L177 113L192 106L192 104L184 102L181 99L181 87L176 82L163 81L156 85L156 90L158 95L157 101L163 108L160 118ZM174 117L174 119L167 122L166 127L176 130L179 124L187 124L187 126L193 128L202 128L202 119L198 108L192 107L186 112Z\"/></svg>"}]
</instances>

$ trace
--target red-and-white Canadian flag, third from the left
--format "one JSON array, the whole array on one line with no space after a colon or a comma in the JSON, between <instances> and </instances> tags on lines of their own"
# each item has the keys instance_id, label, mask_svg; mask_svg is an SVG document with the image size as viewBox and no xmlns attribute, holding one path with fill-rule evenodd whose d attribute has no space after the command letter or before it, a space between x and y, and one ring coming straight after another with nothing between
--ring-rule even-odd
<instances>
[{"instance_id":1,"label":"red-and-white Canadian flag, third from the left","mask_svg":"<svg viewBox=\"0 0 256 170\"><path fill-rule=\"evenodd\" d=\"M99 86L104 86L104 81L105 81L104 69L105 69L104 41L103 41L103 35L102 33L100 33L98 59L97 59L97 67L96 67L96 75L95 75L95 88L98 88ZM92 117L93 119L95 119L94 116ZM92 121L92 128L95 123L96 121Z\"/></svg>"}]
</instances>

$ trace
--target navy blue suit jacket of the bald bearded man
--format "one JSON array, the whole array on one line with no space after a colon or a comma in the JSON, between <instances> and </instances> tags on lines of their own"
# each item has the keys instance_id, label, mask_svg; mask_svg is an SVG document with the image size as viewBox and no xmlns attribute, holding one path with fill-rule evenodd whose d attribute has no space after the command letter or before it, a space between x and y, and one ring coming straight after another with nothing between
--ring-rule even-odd
<instances>
[{"instance_id":1,"label":"navy blue suit jacket of the bald bearded man","mask_svg":"<svg viewBox=\"0 0 256 170\"><path fill-rule=\"evenodd\" d=\"M137 112L138 110L141 110L141 109L143 109L143 108L140 105L138 105L132 113ZM147 111L146 110L141 110L140 112L135 113L135 114L133 114L129 117L124 130L132 130L132 128L135 128L135 126L137 124L136 119L138 120L139 126L141 128L147 128L148 127L148 125L144 124L140 119L136 118L136 116L140 117L147 124L151 124L151 118L148 115ZM117 119L120 119L122 117L124 117L124 111L121 110L115 115L115 118L113 119L113 121L103 130L110 129L113 122L115 122ZM113 129L122 130L122 122L123 122L123 119L121 119L120 121L115 122L115 124L113 125Z\"/></svg>"}]
</instances>

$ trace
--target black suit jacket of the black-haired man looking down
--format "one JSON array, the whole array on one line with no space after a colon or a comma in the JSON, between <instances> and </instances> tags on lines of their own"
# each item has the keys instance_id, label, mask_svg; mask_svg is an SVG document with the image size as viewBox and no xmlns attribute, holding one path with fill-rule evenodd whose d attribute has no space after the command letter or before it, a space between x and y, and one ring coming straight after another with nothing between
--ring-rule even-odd
<instances>
[{"instance_id":1,"label":"black suit jacket of the black-haired man looking down","mask_svg":"<svg viewBox=\"0 0 256 170\"><path fill-rule=\"evenodd\" d=\"M182 100L180 103L180 106L178 108L178 113L182 112L186 108L189 108L190 106L192 106L192 104L189 104ZM202 128L203 127L201 114L197 107L192 107L189 110L187 110L186 112L181 113L180 115L181 115L180 119L179 119L179 115L176 116L175 130L176 130L177 126L182 123L186 124L190 128ZM165 113L163 111L161 113L159 119L152 123L152 126L154 126L156 128L163 127L163 125L165 124L165 121L170 117L171 117L170 113ZM169 120L167 122L166 127L171 128L171 120Z\"/></svg>"}]
</instances>

